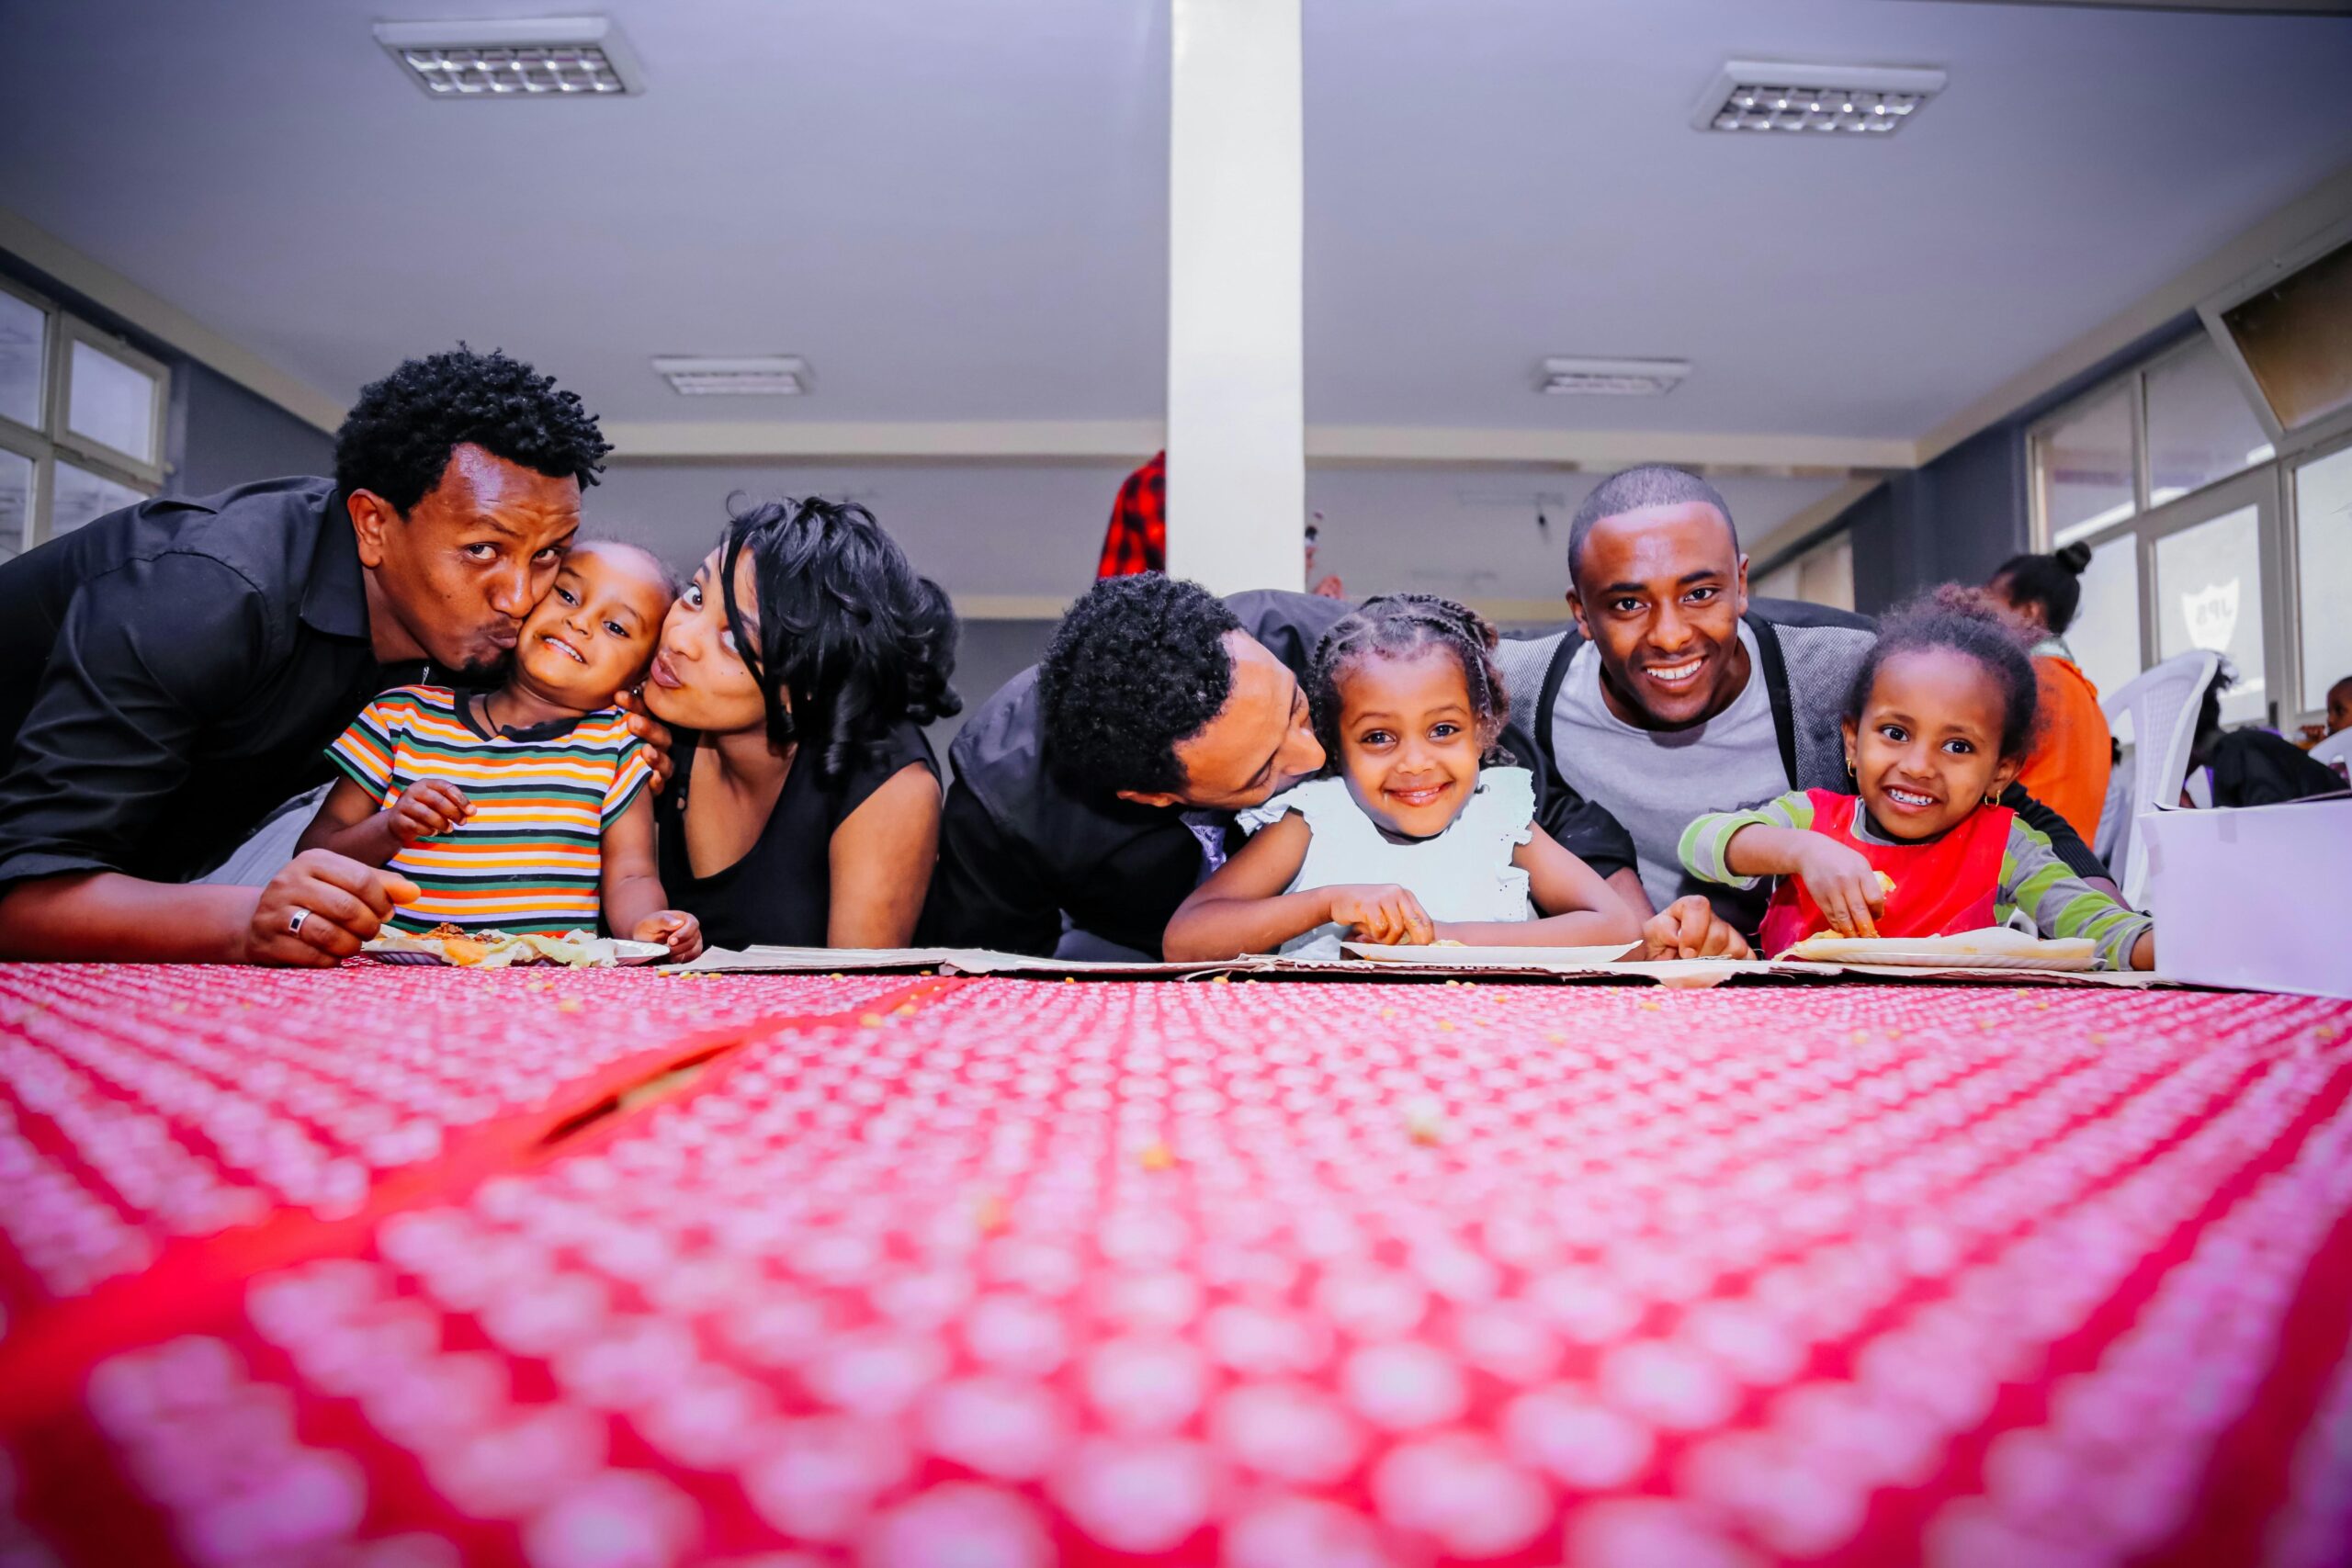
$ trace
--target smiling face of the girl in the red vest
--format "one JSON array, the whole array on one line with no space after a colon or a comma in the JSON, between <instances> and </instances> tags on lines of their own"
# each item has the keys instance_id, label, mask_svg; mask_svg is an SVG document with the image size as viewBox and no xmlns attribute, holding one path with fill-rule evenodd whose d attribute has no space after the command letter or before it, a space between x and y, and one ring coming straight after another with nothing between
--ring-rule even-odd
<instances>
[{"instance_id":1,"label":"smiling face of the girl in the red vest","mask_svg":"<svg viewBox=\"0 0 2352 1568\"><path fill-rule=\"evenodd\" d=\"M1872 820L1896 839L1957 825L2025 766L2002 757L2002 682L1957 649L1889 654L1863 719L1846 719L1846 766Z\"/></svg>"}]
</instances>

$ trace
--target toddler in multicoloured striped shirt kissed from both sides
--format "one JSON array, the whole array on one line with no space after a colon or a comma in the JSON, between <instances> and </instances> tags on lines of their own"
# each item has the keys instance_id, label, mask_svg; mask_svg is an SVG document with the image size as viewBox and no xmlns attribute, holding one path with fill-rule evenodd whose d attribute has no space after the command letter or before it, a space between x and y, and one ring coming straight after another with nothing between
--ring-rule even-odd
<instances>
[{"instance_id":1,"label":"toddler in multicoloured striped shirt kissed from both sides","mask_svg":"<svg viewBox=\"0 0 2352 1568\"><path fill-rule=\"evenodd\" d=\"M635 545L583 543L524 618L496 691L400 686L327 757L343 778L303 832L416 884L397 931L595 931L703 950L654 860L652 766L614 696L661 639L677 588Z\"/></svg>"}]
</instances>

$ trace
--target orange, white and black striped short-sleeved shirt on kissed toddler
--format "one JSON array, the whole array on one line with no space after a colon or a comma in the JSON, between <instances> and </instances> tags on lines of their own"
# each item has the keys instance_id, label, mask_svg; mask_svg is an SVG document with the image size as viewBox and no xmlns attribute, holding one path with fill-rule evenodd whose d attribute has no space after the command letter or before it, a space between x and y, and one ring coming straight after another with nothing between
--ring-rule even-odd
<instances>
[{"instance_id":1,"label":"orange, white and black striped short-sleeved shirt on kissed toddler","mask_svg":"<svg viewBox=\"0 0 2352 1568\"><path fill-rule=\"evenodd\" d=\"M619 708L492 736L447 686L386 691L327 759L379 806L426 778L454 783L473 802L466 823L393 856L390 870L423 891L393 912L397 931L595 931L604 827L652 778L644 743Z\"/></svg>"}]
</instances>

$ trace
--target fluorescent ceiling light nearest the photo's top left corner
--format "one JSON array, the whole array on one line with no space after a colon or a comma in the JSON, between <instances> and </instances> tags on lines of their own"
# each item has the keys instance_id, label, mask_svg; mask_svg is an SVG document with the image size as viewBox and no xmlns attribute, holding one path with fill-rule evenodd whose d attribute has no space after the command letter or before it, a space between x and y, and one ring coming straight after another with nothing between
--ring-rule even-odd
<instances>
[{"instance_id":1,"label":"fluorescent ceiling light nearest the photo's top left corner","mask_svg":"<svg viewBox=\"0 0 2352 1568\"><path fill-rule=\"evenodd\" d=\"M433 99L619 99L644 73L612 16L379 21L376 42Z\"/></svg>"}]
</instances>

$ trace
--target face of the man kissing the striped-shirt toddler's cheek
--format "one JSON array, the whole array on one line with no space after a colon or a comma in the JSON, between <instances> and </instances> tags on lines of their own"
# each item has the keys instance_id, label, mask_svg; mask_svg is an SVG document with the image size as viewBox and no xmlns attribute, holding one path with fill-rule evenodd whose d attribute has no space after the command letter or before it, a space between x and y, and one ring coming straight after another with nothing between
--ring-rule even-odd
<instances>
[{"instance_id":1,"label":"face of the man kissing the striped-shirt toddler's cheek","mask_svg":"<svg viewBox=\"0 0 2352 1568\"><path fill-rule=\"evenodd\" d=\"M485 675L555 583L581 527L581 487L466 444L407 515L365 489L348 508L376 656Z\"/></svg>"}]
</instances>

